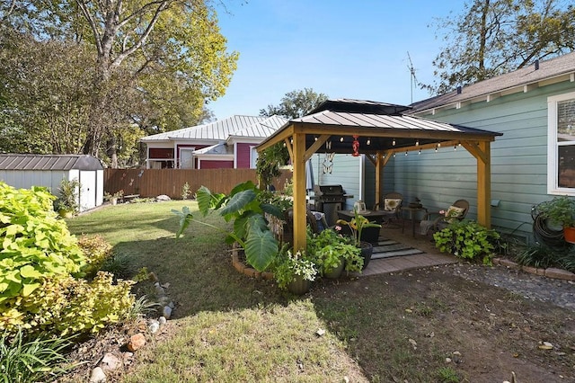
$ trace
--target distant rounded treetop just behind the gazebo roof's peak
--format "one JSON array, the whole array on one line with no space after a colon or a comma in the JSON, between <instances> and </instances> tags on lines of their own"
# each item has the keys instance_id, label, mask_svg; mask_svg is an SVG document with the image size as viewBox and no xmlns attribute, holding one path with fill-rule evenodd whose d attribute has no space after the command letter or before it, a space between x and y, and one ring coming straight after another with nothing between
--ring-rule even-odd
<instances>
[{"instance_id":1,"label":"distant rounded treetop just behind the gazebo roof's peak","mask_svg":"<svg viewBox=\"0 0 575 383\"><path fill-rule=\"evenodd\" d=\"M320 103L326 101L328 96L317 94L311 88L288 92L282 97L279 105L268 105L260 110L261 116L273 116L277 114L287 119L296 119L305 116Z\"/></svg>"}]
</instances>

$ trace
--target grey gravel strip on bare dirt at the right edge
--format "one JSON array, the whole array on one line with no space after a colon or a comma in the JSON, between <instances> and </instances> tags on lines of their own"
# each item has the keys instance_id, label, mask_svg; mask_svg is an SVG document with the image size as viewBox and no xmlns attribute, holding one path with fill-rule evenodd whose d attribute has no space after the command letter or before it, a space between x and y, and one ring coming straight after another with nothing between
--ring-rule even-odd
<instances>
[{"instance_id":1,"label":"grey gravel strip on bare dirt at the right edge","mask_svg":"<svg viewBox=\"0 0 575 383\"><path fill-rule=\"evenodd\" d=\"M454 263L445 272L472 281L508 289L527 299L553 303L575 311L575 282L556 280L523 272L507 266L482 266L470 263Z\"/></svg>"}]
</instances>

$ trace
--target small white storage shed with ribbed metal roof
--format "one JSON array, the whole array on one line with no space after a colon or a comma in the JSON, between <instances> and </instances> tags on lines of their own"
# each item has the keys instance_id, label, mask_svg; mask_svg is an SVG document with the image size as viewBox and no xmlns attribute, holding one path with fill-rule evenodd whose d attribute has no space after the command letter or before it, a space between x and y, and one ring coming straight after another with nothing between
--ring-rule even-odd
<instances>
[{"instance_id":1,"label":"small white storage shed with ribbed metal roof","mask_svg":"<svg viewBox=\"0 0 575 383\"><path fill-rule=\"evenodd\" d=\"M45 186L57 195L63 178L80 182L80 211L102 205L104 170L98 158L82 155L0 154L0 181L15 188Z\"/></svg>"}]
</instances>

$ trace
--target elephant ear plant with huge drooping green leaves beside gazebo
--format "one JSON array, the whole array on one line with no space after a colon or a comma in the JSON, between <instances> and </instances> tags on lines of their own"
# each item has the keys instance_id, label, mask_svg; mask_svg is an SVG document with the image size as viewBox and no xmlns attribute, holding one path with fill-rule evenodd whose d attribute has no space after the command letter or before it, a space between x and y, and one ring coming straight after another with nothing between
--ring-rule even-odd
<instances>
[{"instance_id":1,"label":"elephant ear plant with huge drooping green leaves beside gazebo","mask_svg":"<svg viewBox=\"0 0 575 383\"><path fill-rule=\"evenodd\" d=\"M225 231L226 242L237 242L242 246L247 262L258 272L263 272L278 254L279 246L263 214L269 213L278 218L283 218L283 215L276 206L262 202L259 198L260 193L256 185L248 181L236 185L228 196L212 193L207 187L201 186L196 192L196 198L199 213L203 217L211 211L219 211L226 222L233 221L233 230ZM181 211L175 209L172 211L180 217L180 228L176 237L182 235L191 221L224 231L220 227L195 219L188 207L183 207Z\"/></svg>"}]
</instances>

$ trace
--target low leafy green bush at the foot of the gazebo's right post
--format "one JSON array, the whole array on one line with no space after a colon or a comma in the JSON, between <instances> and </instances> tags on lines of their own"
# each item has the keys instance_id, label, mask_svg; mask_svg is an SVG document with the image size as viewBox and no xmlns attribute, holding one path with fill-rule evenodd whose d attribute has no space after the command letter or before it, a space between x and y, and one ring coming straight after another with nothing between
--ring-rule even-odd
<instances>
[{"instance_id":1,"label":"low leafy green bush at the foot of the gazebo's right post","mask_svg":"<svg viewBox=\"0 0 575 383\"><path fill-rule=\"evenodd\" d=\"M435 233L433 239L441 252L469 260L482 256L483 263L491 264L493 253L499 245L500 235L475 221L463 220L450 223Z\"/></svg>"}]
</instances>

